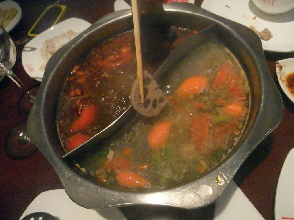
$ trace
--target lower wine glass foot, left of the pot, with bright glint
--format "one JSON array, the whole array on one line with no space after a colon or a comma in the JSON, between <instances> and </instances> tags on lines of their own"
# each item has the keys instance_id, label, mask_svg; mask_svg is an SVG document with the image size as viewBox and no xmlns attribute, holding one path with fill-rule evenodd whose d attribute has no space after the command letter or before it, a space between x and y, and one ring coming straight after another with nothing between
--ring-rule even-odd
<instances>
[{"instance_id":1,"label":"lower wine glass foot, left of the pot, with bright glint","mask_svg":"<svg viewBox=\"0 0 294 220\"><path fill-rule=\"evenodd\" d=\"M12 157L28 157L37 150L27 136L26 123L27 120L24 120L16 124L6 138L6 152Z\"/></svg>"}]
</instances>

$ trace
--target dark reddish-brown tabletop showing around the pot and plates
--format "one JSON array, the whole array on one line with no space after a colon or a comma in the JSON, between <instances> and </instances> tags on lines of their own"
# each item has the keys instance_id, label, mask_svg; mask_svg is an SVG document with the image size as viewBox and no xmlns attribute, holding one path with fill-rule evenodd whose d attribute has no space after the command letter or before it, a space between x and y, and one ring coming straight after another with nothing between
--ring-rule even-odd
<instances>
[{"instance_id":1,"label":"dark reddish-brown tabletop showing around the pot and plates","mask_svg":"<svg viewBox=\"0 0 294 220\"><path fill-rule=\"evenodd\" d=\"M27 36L37 18L54 1L15 1L21 6L23 16L10 35L13 40L19 40ZM67 7L63 20L77 17L94 23L114 11L114 1L63 0L60 4ZM200 6L202 1L196 0L195 4ZM17 46L17 60L13 71L25 84L33 87L38 83L26 74L21 63L23 46ZM275 61L294 57L294 53L265 52L265 57L280 89L275 76ZM16 123L25 119L17 107L22 94L22 91L7 77L0 82L0 219L3 220L19 219L41 192L63 188L50 163L39 150L22 160L10 158L5 153L6 136ZM234 177L237 185L265 220L274 219L278 176L286 155L294 147L294 106L283 92L281 94L285 104L282 122L253 150Z\"/></svg>"}]
</instances>

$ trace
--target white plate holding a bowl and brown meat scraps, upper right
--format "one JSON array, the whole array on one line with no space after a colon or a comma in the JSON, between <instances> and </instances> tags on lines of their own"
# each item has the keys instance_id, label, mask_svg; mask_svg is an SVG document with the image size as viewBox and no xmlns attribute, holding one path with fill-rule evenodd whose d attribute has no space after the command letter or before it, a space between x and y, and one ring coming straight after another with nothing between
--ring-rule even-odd
<instances>
[{"instance_id":1,"label":"white plate holding a bowl and brown meat scraps, upper right","mask_svg":"<svg viewBox=\"0 0 294 220\"><path fill-rule=\"evenodd\" d=\"M262 13L252 0L204 0L201 7L248 28L253 26L257 31L268 28L273 38L268 41L261 40L263 50L294 51L294 9L270 16Z\"/></svg>"}]
</instances>

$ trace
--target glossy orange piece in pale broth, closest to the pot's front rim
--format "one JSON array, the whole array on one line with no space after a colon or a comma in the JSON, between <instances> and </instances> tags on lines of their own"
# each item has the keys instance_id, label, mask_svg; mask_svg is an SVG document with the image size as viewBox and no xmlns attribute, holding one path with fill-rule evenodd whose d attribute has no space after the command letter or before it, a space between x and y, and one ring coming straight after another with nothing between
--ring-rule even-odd
<instances>
[{"instance_id":1,"label":"glossy orange piece in pale broth, closest to the pot's front rim","mask_svg":"<svg viewBox=\"0 0 294 220\"><path fill-rule=\"evenodd\" d=\"M141 175L132 172L132 171L122 171L116 175L116 180L118 184L122 187L141 187L141 188L150 188L151 184L145 180Z\"/></svg>"}]
</instances>

